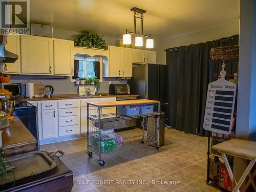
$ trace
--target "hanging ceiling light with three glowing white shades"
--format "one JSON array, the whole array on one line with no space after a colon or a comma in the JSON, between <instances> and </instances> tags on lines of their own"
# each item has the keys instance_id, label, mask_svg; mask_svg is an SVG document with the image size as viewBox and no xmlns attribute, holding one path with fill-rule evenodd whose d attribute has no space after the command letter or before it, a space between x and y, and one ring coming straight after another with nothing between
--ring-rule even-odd
<instances>
[{"instance_id":1,"label":"hanging ceiling light with three glowing white shades","mask_svg":"<svg viewBox=\"0 0 256 192\"><path fill-rule=\"evenodd\" d=\"M123 45L131 45L131 34L136 35L135 37L135 46L142 47L143 46L143 37L146 37L146 48L154 48L154 39L151 38L151 35L144 35L143 31L143 13L146 10L139 9L134 7L131 9L134 12L134 32L130 32L126 29L126 33L123 35ZM140 15L140 17L138 16ZM136 18L141 19L141 34L136 29Z\"/></svg>"}]
</instances>

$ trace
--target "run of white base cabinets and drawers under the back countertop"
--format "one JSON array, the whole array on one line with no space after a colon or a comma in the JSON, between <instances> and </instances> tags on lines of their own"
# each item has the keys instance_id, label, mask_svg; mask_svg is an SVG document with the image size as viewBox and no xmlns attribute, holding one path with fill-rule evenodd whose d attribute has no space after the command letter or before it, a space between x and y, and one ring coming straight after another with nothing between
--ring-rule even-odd
<instances>
[{"instance_id":1,"label":"run of white base cabinets and drawers under the back countertop","mask_svg":"<svg viewBox=\"0 0 256 192\"><path fill-rule=\"evenodd\" d=\"M78 134L87 133L87 102L115 100L115 97L107 97L30 102L36 105L38 109L40 142L53 143L64 141L73 139ZM115 112L115 107L102 108L101 110L102 115ZM89 114L98 114L98 109L91 106ZM105 116L104 118L107 117Z\"/></svg>"}]
</instances>

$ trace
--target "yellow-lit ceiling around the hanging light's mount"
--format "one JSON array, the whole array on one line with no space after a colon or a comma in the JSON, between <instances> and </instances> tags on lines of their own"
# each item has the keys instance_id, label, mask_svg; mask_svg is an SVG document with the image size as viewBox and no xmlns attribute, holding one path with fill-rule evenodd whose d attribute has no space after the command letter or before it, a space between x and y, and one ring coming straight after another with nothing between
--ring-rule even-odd
<instances>
[{"instance_id":1,"label":"yellow-lit ceiling around the hanging light's mount","mask_svg":"<svg viewBox=\"0 0 256 192\"><path fill-rule=\"evenodd\" d=\"M146 10L144 34L153 38L189 33L239 19L239 0L30 0L32 23L109 37L134 31L131 8ZM137 29L140 31L140 21Z\"/></svg>"}]
</instances>

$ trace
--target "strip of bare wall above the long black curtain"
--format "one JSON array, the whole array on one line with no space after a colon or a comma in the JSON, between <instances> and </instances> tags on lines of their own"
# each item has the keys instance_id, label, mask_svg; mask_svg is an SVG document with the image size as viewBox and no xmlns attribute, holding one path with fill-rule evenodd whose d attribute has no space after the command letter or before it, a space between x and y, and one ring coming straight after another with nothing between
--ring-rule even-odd
<instances>
[{"instance_id":1,"label":"strip of bare wall above the long black curtain","mask_svg":"<svg viewBox=\"0 0 256 192\"><path fill-rule=\"evenodd\" d=\"M210 29L156 39L155 46L157 51L157 63L166 64L165 49L198 44L200 42L211 41L237 34L239 34L239 20L226 25L215 26Z\"/></svg>"}]
</instances>

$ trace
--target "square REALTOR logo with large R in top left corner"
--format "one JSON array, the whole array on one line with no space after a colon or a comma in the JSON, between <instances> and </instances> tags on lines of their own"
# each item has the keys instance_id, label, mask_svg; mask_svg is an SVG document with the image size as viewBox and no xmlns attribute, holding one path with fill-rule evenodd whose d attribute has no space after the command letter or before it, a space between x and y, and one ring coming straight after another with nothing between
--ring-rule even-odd
<instances>
[{"instance_id":1,"label":"square REALTOR logo with large R in top left corner","mask_svg":"<svg viewBox=\"0 0 256 192\"><path fill-rule=\"evenodd\" d=\"M0 0L1 33L29 34L29 0Z\"/></svg>"}]
</instances>

